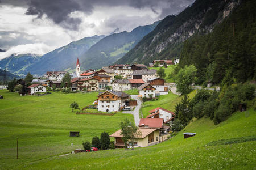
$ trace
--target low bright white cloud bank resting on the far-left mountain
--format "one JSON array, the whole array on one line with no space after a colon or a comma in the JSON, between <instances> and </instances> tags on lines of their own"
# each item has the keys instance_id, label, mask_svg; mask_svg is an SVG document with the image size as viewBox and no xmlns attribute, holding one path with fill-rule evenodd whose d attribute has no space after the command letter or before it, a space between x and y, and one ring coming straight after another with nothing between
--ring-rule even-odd
<instances>
[{"instance_id":1,"label":"low bright white cloud bank resting on the far-left mountain","mask_svg":"<svg viewBox=\"0 0 256 170\"><path fill-rule=\"evenodd\" d=\"M12 54L38 54L38 55L43 55L46 52L51 50L50 46L47 46L46 44L43 43L35 43L35 44L23 44L23 45L17 45L6 52L0 53L0 59L6 58L11 56Z\"/></svg>"}]
</instances>

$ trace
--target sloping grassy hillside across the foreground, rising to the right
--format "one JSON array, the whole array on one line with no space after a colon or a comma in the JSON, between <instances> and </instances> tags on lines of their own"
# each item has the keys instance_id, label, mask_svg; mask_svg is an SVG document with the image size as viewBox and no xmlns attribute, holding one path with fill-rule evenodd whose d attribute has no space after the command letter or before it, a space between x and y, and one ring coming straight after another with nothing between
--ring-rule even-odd
<instances>
[{"instance_id":1,"label":"sloping grassy hillside across the foreground, rising to the right","mask_svg":"<svg viewBox=\"0 0 256 170\"><path fill-rule=\"evenodd\" d=\"M236 112L214 125L209 118L194 120L176 137L135 150L72 154L21 165L25 169L254 169L256 112ZM195 137L183 139L184 132ZM247 141L243 140L247 137ZM226 139L229 145L214 145ZM240 142L238 142L238 139ZM213 145L208 143L212 142ZM237 143L236 143L237 142Z\"/></svg>"}]
</instances>

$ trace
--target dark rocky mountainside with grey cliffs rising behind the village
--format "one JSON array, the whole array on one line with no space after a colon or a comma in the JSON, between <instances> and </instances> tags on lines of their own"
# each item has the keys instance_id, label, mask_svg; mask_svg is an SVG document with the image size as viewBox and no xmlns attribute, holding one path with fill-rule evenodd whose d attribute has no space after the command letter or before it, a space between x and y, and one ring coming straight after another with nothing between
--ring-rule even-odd
<instances>
[{"instance_id":1,"label":"dark rocky mountainside with grey cliffs rising behind the village","mask_svg":"<svg viewBox=\"0 0 256 170\"><path fill-rule=\"evenodd\" d=\"M212 31L237 4L238 0L196 0L180 14L164 18L116 63L148 64L154 59L179 58L185 40Z\"/></svg>"}]
</instances>

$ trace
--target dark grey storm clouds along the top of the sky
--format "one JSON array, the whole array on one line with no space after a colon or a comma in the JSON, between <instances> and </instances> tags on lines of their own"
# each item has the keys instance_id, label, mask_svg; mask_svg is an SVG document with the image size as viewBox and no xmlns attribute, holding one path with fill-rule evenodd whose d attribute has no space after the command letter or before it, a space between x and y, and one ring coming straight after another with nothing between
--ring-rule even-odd
<instances>
[{"instance_id":1,"label":"dark grey storm clouds along the top of the sky","mask_svg":"<svg viewBox=\"0 0 256 170\"><path fill-rule=\"evenodd\" d=\"M68 29L77 29L81 23L79 18L71 18L69 14L81 11L87 15L92 14L94 6L114 7L130 6L133 8L150 8L155 14L161 9L158 19L167 15L176 14L190 5L194 0L0 0L1 4L24 6L27 15L42 18L46 14L56 24ZM111 11L110 11L111 12Z\"/></svg>"}]
</instances>

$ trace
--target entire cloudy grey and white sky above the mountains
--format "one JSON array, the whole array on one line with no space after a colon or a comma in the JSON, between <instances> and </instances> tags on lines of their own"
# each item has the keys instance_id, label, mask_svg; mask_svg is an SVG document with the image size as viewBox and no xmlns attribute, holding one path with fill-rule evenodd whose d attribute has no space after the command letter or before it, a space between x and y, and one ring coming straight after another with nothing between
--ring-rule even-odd
<instances>
[{"instance_id":1,"label":"entire cloudy grey and white sky above the mountains","mask_svg":"<svg viewBox=\"0 0 256 170\"><path fill-rule=\"evenodd\" d=\"M130 32L195 0L0 0L0 59L43 55L94 35Z\"/></svg>"}]
</instances>

